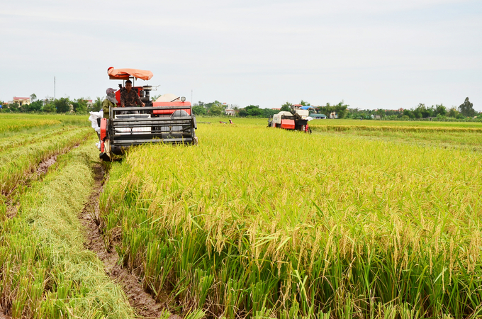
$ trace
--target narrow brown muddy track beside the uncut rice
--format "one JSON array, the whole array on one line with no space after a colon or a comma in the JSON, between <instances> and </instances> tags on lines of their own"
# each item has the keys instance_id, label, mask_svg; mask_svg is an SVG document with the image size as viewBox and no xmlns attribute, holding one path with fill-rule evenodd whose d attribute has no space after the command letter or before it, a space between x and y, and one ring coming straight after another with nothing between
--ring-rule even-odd
<instances>
[{"instance_id":1,"label":"narrow brown muddy track beside the uncut rice","mask_svg":"<svg viewBox=\"0 0 482 319\"><path fill-rule=\"evenodd\" d=\"M149 293L142 289L138 277L134 276L126 269L120 267L118 255L114 252L107 252L99 229L99 195L103 189L104 170L101 164L94 166L95 184L89 197L89 201L79 216L82 225L86 229L86 248L96 252L106 267L106 274L119 284L128 296L130 306L135 308L139 318L159 318L161 314L161 303L156 303ZM175 318L175 317L174 317Z\"/></svg>"}]
</instances>

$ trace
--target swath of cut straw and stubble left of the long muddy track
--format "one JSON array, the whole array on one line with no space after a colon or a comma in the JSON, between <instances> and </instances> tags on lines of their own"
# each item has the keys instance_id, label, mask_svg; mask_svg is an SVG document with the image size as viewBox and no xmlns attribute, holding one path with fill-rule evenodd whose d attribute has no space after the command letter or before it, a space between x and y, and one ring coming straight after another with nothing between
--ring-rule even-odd
<instances>
[{"instance_id":1,"label":"swath of cut straw and stubble left of the long muddy track","mask_svg":"<svg viewBox=\"0 0 482 319\"><path fill-rule=\"evenodd\" d=\"M57 170L0 211L0 312L13 318L133 318L125 295L84 250L77 219L91 193L94 140L58 157Z\"/></svg>"}]
</instances>

